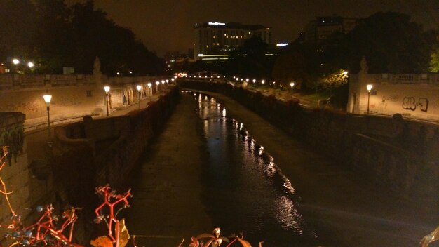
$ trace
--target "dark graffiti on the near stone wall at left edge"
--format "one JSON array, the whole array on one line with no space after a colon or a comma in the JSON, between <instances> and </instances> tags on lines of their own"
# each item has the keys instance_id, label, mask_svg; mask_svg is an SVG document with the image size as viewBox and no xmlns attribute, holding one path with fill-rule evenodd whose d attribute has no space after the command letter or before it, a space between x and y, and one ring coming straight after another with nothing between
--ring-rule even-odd
<instances>
[{"instance_id":1,"label":"dark graffiti on the near stone wall at left edge","mask_svg":"<svg viewBox=\"0 0 439 247\"><path fill-rule=\"evenodd\" d=\"M25 142L25 128L23 124L17 124L11 128L3 129L0 132L0 146L8 146L8 164L11 166L11 159L17 162L17 156L23 153L23 143ZM1 152L1 150L0 150ZM2 155L0 153L0 155Z\"/></svg>"}]
</instances>

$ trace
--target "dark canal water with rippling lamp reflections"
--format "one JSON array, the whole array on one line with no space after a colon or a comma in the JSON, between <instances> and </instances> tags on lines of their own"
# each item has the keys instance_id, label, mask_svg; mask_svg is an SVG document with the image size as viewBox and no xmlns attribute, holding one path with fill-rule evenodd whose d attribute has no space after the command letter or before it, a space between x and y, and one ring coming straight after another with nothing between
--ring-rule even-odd
<instances>
[{"instance_id":1,"label":"dark canal water with rippling lamp reflections","mask_svg":"<svg viewBox=\"0 0 439 247\"><path fill-rule=\"evenodd\" d=\"M294 185L215 98L192 93L203 138L202 201L214 226L243 232L257 246L316 246L316 233L297 209Z\"/></svg>"}]
</instances>

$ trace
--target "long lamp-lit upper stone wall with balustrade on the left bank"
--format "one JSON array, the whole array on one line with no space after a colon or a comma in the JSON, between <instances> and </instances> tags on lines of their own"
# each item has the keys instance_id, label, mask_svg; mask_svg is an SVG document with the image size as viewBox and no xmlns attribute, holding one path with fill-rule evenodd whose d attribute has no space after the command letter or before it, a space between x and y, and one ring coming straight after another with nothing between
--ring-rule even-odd
<instances>
[{"instance_id":1,"label":"long lamp-lit upper stone wall with balustrade on the left bank","mask_svg":"<svg viewBox=\"0 0 439 247\"><path fill-rule=\"evenodd\" d=\"M106 94L110 86L109 110L121 109L140 97L149 97L162 91L166 84L154 84L162 77L107 77L102 74L2 74L0 75L0 112L22 112L26 126L47 121L43 95L52 95L50 120L81 117L87 114L105 115ZM149 88L151 82L154 86ZM77 119L75 119L77 120Z\"/></svg>"}]
</instances>

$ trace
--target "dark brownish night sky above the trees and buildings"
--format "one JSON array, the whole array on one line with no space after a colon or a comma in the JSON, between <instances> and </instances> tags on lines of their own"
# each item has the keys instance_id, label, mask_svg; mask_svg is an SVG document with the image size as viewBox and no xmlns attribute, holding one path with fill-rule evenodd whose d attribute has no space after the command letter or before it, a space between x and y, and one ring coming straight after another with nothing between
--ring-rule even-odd
<instances>
[{"instance_id":1,"label":"dark brownish night sky above the trees and buildings","mask_svg":"<svg viewBox=\"0 0 439 247\"><path fill-rule=\"evenodd\" d=\"M72 3L81 0L68 0ZM424 29L439 28L439 0L95 0L117 25L150 51L187 52L196 22L241 22L272 27L273 42L292 41L316 16L365 18L378 11L407 13Z\"/></svg>"}]
</instances>

